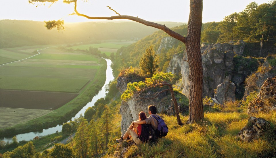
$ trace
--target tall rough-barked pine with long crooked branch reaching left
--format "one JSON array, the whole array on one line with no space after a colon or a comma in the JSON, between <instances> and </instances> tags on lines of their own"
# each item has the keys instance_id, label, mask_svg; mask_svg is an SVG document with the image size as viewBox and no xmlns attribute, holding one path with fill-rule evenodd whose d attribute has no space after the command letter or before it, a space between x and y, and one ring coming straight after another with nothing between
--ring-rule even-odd
<instances>
[{"instance_id":1,"label":"tall rough-barked pine with long crooked branch reaching left","mask_svg":"<svg viewBox=\"0 0 276 158\"><path fill-rule=\"evenodd\" d=\"M29 0L29 3L34 2L56 2L58 0ZM181 34L169 29L165 25L157 24L154 22L149 22L138 17L120 15L115 10L117 16L111 17L94 17L81 14L77 10L77 0L63 0L64 3L74 3L74 13L78 16L83 16L88 19L105 19L105 20L115 20L115 19L128 19L141 24L158 28L168 33L170 36L178 39L179 41L185 43L187 58L189 61L189 119L187 123L199 121L204 118L203 114L203 103L202 103L202 86L203 86L203 72L202 72L202 59L200 53L200 34L202 25L202 0L190 0L190 14L188 21L187 36L184 37ZM55 23L49 23L50 26L47 27L62 27L62 22L57 21ZM47 25L47 24L46 24Z\"/></svg>"}]
</instances>

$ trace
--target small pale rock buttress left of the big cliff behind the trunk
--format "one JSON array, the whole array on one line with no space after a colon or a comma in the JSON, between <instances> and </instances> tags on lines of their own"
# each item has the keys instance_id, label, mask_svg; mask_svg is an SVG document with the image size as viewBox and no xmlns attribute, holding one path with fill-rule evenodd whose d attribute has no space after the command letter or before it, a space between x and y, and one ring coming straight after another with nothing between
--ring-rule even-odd
<instances>
[{"instance_id":1,"label":"small pale rock buttress left of the big cliff behind the trunk","mask_svg":"<svg viewBox=\"0 0 276 158\"><path fill-rule=\"evenodd\" d=\"M172 74L180 74L182 59L183 53L173 55L173 59L170 60L167 72L171 72Z\"/></svg>"}]
</instances>

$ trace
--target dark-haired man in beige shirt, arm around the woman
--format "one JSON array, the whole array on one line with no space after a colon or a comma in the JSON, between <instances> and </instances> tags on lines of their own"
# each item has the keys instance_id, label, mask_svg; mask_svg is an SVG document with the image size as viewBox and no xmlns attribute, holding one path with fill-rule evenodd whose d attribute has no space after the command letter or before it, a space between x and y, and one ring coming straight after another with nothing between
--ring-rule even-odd
<instances>
[{"instance_id":1,"label":"dark-haired man in beige shirt, arm around the woman","mask_svg":"<svg viewBox=\"0 0 276 158\"><path fill-rule=\"evenodd\" d=\"M159 115L156 114L157 109L156 109L156 107L155 107L154 105L150 105L150 106L148 107L148 109L149 109L148 112L149 112L150 116L147 117L145 120L133 121L133 122L131 123L131 125L129 126L129 128L127 129L127 132L124 134L124 136L121 136L121 138L120 138L120 139L117 139L116 142L122 142L122 141L124 141L124 139L126 139L126 138L127 138L129 135L131 135L132 133L133 133L133 135L134 135L134 131L131 132L131 130L133 129L133 127L135 126L135 124L140 124L140 125L141 125L141 124L150 124L154 130L157 129L158 121L157 121L154 117L152 117L153 115L154 115L156 118L160 117ZM131 135L131 136L132 136L132 135ZM133 137L133 136L132 136L132 137ZM136 137L137 137L137 135L136 135ZM133 138L133 139L136 139L136 138ZM139 139L139 138L138 138L138 139ZM141 142L141 141L140 141L140 142Z\"/></svg>"}]
</instances>

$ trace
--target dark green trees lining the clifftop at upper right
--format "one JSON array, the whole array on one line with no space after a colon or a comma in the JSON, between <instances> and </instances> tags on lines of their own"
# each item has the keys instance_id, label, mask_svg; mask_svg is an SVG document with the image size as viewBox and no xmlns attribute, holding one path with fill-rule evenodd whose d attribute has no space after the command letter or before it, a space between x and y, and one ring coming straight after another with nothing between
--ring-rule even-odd
<instances>
[{"instance_id":1,"label":"dark green trees lining the clifftop at upper right","mask_svg":"<svg viewBox=\"0 0 276 158\"><path fill-rule=\"evenodd\" d=\"M249 3L246 8L226 16L222 22L208 22L202 27L202 42L216 43L231 40L260 42L273 40L276 36L276 1L258 5Z\"/></svg>"}]
</instances>

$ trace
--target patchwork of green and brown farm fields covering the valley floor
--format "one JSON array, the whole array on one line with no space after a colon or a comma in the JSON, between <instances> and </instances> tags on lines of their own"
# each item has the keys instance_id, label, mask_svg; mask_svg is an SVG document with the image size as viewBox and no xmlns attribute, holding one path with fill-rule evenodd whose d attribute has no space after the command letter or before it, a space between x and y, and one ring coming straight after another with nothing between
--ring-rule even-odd
<instances>
[{"instance_id":1,"label":"patchwork of green and brown farm fields covering the valley floor","mask_svg":"<svg viewBox=\"0 0 276 158\"><path fill-rule=\"evenodd\" d=\"M72 48L92 46L110 55L131 43L109 41ZM62 118L74 116L73 111L91 101L104 84L104 59L57 48L39 45L0 49L0 130L13 128L16 133L54 126ZM36 55L36 50L41 54ZM1 65L11 61L17 62Z\"/></svg>"}]
</instances>

